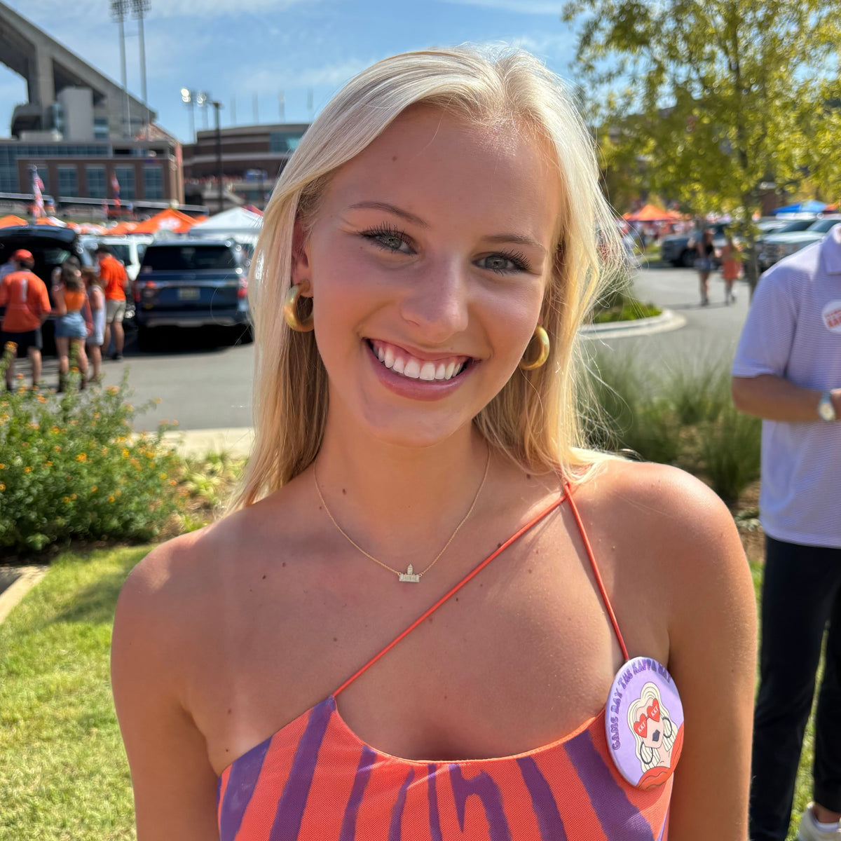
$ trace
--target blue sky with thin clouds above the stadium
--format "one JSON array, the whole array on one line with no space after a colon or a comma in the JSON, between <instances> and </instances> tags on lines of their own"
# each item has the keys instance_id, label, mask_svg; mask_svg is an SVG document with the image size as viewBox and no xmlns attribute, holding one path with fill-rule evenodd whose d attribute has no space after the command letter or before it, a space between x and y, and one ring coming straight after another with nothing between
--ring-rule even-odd
<instances>
[{"instance_id":1,"label":"blue sky with thin clouds above the stadium","mask_svg":"<svg viewBox=\"0 0 841 841\"><path fill-rule=\"evenodd\" d=\"M4 0L24 18L117 82L117 24L108 0ZM574 34L560 19L563 0L151 0L145 21L149 104L158 122L188 140L181 87L223 103L222 125L277 122L283 91L287 122L309 121L362 68L385 56L465 41L531 50L571 76ZM200 9L200 13L196 10ZM126 24L128 83L140 97L139 41ZM312 90L313 111L308 108ZM24 80L0 66L0 136L8 135ZM213 124L212 114L208 114ZM196 127L204 114L196 111Z\"/></svg>"}]
</instances>

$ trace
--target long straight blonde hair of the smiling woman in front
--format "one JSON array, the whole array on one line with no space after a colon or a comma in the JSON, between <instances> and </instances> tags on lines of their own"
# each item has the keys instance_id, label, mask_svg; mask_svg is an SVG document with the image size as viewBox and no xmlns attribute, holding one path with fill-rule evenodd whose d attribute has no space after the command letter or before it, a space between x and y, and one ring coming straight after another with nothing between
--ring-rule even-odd
<instances>
[{"instance_id":1,"label":"long straight blonde hair of the smiling woman in front","mask_svg":"<svg viewBox=\"0 0 841 841\"><path fill-rule=\"evenodd\" d=\"M475 124L526 128L548 145L563 185L558 249L541 312L547 363L517 370L474 422L489 443L534 470L573 479L604 458L585 451L575 364L578 329L624 251L600 189L595 150L563 84L522 50L420 50L378 61L341 89L309 126L272 193L251 268L255 321L255 441L236 507L294 479L315 459L327 416L327 373L313 333L283 320L296 220L309 230L331 175L411 105Z\"/></svg>"}]
</instances>

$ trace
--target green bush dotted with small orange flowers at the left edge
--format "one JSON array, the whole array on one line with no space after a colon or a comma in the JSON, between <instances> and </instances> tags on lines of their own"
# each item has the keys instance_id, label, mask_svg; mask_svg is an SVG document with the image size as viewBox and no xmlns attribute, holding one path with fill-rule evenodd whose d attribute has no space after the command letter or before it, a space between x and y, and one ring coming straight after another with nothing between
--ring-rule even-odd
<instances>
[{"instance_id":1,"label":"green bush dotted with small orange flowers at the left edge","mask_svg":"<svg viewBox=\"0 0 841 841\"><path fill-rule=\"evenodd\" d=\"M0 557L73 537L147 540L180 509L167 427L135 436L131 422L148 406L135 409L129 396L127 374L106 389L52 394L21 383L0 394Z\"/></svg>"}]
</instances>

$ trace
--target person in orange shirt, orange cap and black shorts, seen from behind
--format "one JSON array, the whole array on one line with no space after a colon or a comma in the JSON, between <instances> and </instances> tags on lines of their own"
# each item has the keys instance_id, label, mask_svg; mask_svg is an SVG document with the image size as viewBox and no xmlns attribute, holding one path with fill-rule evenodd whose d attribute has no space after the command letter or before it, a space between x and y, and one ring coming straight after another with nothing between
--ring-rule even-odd
<instances>
[{"instance_id":1,"label":"person in orange shirt, orange cap and black shorts, seen from behind","mask_svg":"<svg viewBox=\"0 0 841 841\"><path fill-rule=\"evenodd\" d=\"M6 307L0 336L3 345L13 341L18 356L29 355L32 362L32 386L41 378L41 325L50 313L50 296L44 281L31 271L35 262L29 251L20 249L12 255L15 270L0 280L0 307ZM12 388L14 359L6 369L6 385Z\"/></svg>"}]
</instances>

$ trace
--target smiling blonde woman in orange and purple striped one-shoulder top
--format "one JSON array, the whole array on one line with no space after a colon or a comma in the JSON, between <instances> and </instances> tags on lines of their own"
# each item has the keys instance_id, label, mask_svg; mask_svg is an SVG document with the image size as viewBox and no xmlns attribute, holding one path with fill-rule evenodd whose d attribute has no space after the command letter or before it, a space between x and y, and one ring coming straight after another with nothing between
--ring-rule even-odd
<instances>
[{"instance_id":1,"label":"smiling blonde woman in orange and purple striped one-shoulder top","mask_svg":"<svg viewBox=\"0 0 841 841\"><path fill-rule=\"evenodd\" d=\"M614 230L526 54L394 56L315 120L251 278L239 502L119 600L139 841L744 838L732 518L685 473L582 448L576 336ZM637 667L684 719L647 790L610 731Z\"/></svg>"}]
</instances>

